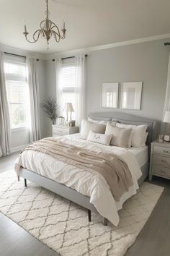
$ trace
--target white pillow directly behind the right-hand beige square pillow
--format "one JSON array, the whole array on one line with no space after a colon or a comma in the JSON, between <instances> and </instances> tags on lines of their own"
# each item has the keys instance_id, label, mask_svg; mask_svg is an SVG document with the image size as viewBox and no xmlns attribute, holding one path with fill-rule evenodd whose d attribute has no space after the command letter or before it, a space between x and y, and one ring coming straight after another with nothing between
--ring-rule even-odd
<instances>
[{"instance_id":1,"label":"white pillow directly behind the right-hand beige square pillow","mask_svg":"<svg viewBox=\"0 0 170 256\"><path fill-rule=\"evenodd\" d=\"M132 132L130 134L129 140L128 140L128 148L132 147L143 147L145 142L145 135L146 135L146 129L148 127L147 124L142 125L133 125L133 124L121 124L117 123L116 127L120 128L131 128Z\"/></svg>"}]
</instances>

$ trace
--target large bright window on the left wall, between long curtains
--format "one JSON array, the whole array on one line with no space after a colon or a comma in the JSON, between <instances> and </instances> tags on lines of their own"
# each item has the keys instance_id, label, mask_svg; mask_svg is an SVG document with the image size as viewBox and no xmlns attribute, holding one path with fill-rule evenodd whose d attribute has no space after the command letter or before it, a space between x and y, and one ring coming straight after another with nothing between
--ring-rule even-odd
<instances>
[{"instance_id":1,"label":"large bright window on the left wall, between long curtains","mask_svg":"<svg viewBox=\"0 0 170 256\"><path fill-rule=\"evenodd\" d=\"M30 97L24 58L7 56L4 62L11 127L28 127Z\"/></svg>"}]
</instances>

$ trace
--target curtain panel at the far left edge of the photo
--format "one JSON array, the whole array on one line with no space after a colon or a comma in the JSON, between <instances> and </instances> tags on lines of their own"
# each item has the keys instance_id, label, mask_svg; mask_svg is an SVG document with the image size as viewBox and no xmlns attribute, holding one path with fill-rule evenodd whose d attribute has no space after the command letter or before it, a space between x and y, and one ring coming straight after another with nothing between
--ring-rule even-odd
<instances>
[{"instance_id":1,"label":"curtain panel at the far left edge of the photo","mask_svg":"<svg viewBox=\"0 0 170 256\"><path fill-rule=\"evenodd\" d=\"M11 127L4 76L4 53L0 51L0 156L10 153Z\"/></svg>"}]
</instances>

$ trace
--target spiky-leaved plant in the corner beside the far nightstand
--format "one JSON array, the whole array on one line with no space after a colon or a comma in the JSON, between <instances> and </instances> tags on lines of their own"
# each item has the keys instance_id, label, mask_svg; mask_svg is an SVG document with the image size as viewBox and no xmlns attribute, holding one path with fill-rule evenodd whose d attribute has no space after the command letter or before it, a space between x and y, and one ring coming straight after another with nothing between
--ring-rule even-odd
<instances>
[{"instance_id":1,"label":"spiky-leaved plant in the corner beside the far nightstand","mask_svg":"<svg viewBox=\"0 0 170 256\"><path fill-rule=\"evenodd\" d=\"M51 119L52 124L55 124L55 119L58 117L57 110L59 108L56 98L48 96L40 106L43 111L45 111L45 114Z\"/></svg>"}]
</instances>

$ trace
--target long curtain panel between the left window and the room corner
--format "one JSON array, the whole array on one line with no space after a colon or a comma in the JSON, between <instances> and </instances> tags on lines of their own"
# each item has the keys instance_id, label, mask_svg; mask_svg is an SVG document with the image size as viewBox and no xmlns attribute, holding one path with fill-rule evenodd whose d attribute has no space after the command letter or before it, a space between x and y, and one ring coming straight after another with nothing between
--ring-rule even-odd
<instances>
[{"instance_id":1,"label":"long curtain panel between the left window and the room corner","mask_svg":"<svg viewBox=\"0 0 170 256\"><path fill-rule=\"evenodd\" d=\"M40 140L40 92L37 59L27 57L27 79L30 89L30 141Z\"/></svg>"}]
</instances>

